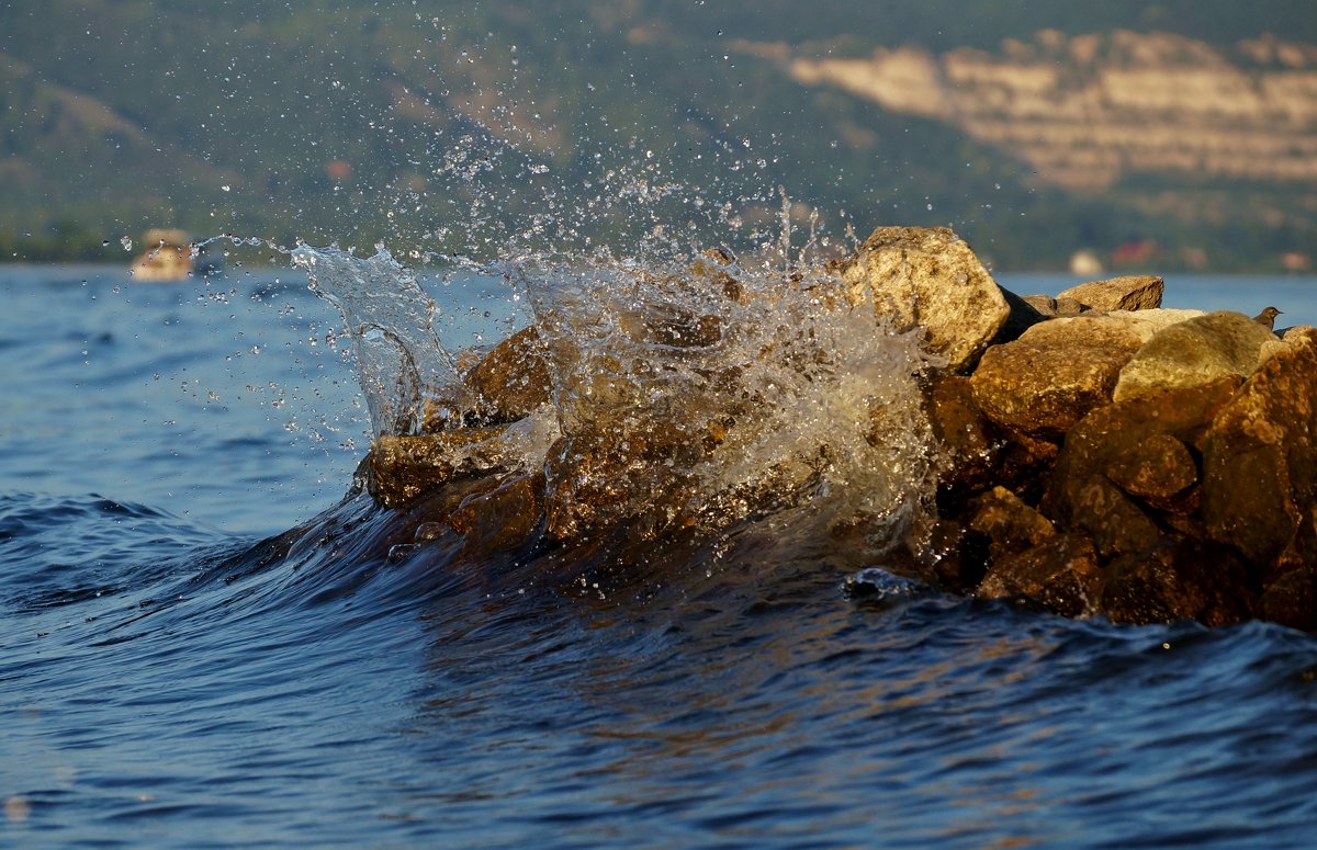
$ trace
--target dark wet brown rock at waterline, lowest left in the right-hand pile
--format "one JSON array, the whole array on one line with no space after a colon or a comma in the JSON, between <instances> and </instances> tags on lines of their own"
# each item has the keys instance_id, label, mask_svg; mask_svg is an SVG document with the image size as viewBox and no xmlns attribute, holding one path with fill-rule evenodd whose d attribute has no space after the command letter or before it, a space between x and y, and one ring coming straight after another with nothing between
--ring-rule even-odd
<instances>
[{"instance_id":1,"label":"dark wet brown rock at waterline, lowest left in the right-hand pile","mask_svg":"<svg viewBox=\"0 0 1317 850\"><path fill-rule=\"evenodd\" d=\"M1058 534L993 563L977 595L1023 599L1059 614L1079 617L1096 609L1101 583L1093 543L1079 534Z\"/></svg>"}]
</instances>

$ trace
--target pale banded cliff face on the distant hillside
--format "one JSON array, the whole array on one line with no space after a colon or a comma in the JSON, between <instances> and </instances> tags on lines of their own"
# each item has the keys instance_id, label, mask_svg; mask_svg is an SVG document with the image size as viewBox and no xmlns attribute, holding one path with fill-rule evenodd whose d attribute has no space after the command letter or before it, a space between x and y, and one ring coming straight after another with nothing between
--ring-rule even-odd
<instances>
[{"instance_id":1,"label":"pale banded cliff face on the distant hillside","mask_svg":"<svg viewBox=\"0 0 1317 850\"><path fill-rule=\"evenodd\" d=\"M952 124L1071 189L1131 171L1317 180L1317 47L1272 37L1223 53L1167 33L1044 30L997 54L880 49L789 72Z\"/></svg>"}]
</instances>

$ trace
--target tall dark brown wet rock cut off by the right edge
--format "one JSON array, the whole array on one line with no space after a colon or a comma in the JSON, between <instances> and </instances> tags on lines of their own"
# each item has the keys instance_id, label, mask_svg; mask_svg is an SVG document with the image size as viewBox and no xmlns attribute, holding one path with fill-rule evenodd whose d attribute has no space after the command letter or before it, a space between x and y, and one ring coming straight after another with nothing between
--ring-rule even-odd
<instances>
[{"instance_id":1,"label":"tall dark brown wet rock cut off by the right edge","mask_svg":"<svg viewBox=\"0 0 1317 850\"><path fill-rule=\"evenodd\" d=\"M1208 532L1258 564L1295 542L1317 500L1317 330L1285 343L1217 413L1202 453Z\"/></svg>"}]
</instances>

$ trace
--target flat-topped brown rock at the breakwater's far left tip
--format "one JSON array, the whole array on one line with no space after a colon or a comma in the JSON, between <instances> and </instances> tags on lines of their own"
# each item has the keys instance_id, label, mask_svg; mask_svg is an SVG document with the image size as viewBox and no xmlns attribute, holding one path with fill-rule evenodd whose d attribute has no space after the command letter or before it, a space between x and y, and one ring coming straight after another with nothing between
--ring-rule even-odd
<instances>
[{"instance_id":1,"label":"flat-topped brown rock at the breakwater's far left tip","mask_svg":"<svg viewBox=\"0 0 1317 850\"><path fill-rule=\"evenodd\" d=\"M469 471L466 450L503 432L502 428L460 428L437 434L383 434L366 458L366 489L386 508L403 507Z\"/></svg>"}]
</instances>

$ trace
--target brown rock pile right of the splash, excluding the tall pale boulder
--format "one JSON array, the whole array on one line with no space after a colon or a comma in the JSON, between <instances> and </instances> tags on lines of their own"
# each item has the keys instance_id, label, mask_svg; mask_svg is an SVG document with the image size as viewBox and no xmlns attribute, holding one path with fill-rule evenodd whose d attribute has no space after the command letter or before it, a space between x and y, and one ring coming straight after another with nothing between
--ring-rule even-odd
<instances>
[{"instance_id":1,"label":"brown rock pile right of the splash, excluding the tall pale boulder","mask_svg":"<svg viewBox=\"0 0 1317 850\"><path fill-rule=\"evenodd\" d=\"M939 578L1068 616L1317 629L1317 330L1159 309L1150 278L1065 300L930 384Z\"/></svg>"}]
</instances>

